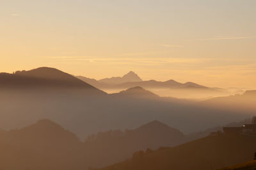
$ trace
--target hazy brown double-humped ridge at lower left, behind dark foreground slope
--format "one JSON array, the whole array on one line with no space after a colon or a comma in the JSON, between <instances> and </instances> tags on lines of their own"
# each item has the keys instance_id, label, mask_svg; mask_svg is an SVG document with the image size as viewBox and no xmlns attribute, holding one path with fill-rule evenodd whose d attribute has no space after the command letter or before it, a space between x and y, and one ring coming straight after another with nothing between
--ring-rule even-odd
<instances>
[{"instance_id":1,"label":"hazy brown double-humped ridge at lower left, behind dark foreground slope","mask_svg":"<svg viewBox=\"0 0 256 170\"><path fill-rule=\"evenodd\" d=\"M175 146L184 135L159 121L134 130L111 130L80 141L51 120L0 133L0 169L88 169L131 157L137 150Z\"/></svg>"}]
</instances>

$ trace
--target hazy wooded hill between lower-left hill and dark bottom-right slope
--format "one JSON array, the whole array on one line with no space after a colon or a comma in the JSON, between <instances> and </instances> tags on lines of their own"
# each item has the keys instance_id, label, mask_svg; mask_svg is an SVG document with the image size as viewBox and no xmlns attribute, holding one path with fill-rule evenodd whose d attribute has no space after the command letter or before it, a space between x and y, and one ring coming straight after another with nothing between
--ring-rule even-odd
<instances>
[{"instance_id":1,"label":"hazy wooded hill between lower-left hill and dark bottom-right slope","mask_svg":"<svg viewBox=\"0 0 256 170\"><path fill-rule=\"evenodd\" d=\"M184 143L184 139L179 130L152 121L134 130L110 130L90 135L84 144L91 153L90 158L95 160L93 167L102 167L131 157L134 151L176 146Z\"/></svg>"}]
</instances>

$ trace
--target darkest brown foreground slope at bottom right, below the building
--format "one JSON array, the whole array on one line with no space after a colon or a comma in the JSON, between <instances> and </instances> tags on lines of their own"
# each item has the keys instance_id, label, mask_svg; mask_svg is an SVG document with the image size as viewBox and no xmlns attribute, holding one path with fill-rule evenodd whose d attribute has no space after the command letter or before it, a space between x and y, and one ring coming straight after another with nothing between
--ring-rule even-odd
<instances>
[{"instance_id":1,"label":"darkest brown foreground slope at bottom right, below the building","mask_svg":"<svg viewBox=\"0 0 256 170\"><path fill-rule=\"evenodd\" d=\"M139 151L125 162L102 170L211 170L253 159L256 136L220 134L173 148Z\"/></svg>"}]
</instances>

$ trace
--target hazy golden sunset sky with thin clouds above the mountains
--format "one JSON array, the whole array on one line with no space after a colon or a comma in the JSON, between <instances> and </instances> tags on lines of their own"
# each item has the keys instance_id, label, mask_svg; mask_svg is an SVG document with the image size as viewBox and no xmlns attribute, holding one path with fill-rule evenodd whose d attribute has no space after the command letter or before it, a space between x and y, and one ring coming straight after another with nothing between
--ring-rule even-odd
<instances>
[{"instance_id":1,"label":"hazy golden sunset sky with thin clouds above the mountains","mask_svg":"<svg viewBox=\"0 0 256 170\"><path fill-rule=\"evenodd\" d=\"M256 89L255 0L1 0L0 72Z\"/></svg>"}]
</instances>

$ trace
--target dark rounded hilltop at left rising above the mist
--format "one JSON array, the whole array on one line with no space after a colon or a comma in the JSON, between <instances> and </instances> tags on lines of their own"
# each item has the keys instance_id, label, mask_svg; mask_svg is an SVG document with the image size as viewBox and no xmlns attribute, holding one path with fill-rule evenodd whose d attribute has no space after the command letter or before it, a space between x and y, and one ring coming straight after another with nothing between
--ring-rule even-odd
<instances>
[{"instance_id":1,"label":"dark rounded hilltop at left rising above the mist","mask_svg":"<svg viewBox=\"0 0 256 170\"><path fill-rule=\"evenodd\" d=\"M61 72L56 68L41 67L29 71L0 73L0 88L31 89L31 88L77 88L104 93L76 77Z\"/></svg>"}]
</instances>

